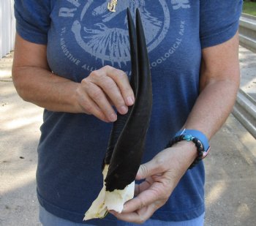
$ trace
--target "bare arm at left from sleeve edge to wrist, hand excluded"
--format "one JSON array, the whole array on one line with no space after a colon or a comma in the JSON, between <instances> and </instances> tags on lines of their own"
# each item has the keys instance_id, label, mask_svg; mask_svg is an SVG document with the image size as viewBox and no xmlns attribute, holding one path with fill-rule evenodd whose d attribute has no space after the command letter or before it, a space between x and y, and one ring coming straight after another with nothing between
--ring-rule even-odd
<instances>
[{"instance_id":1,"label":"bare arm at left from sleeve edge to wrist, hand excluded","mask_svg":"<svg viewBox=\"0 0 256 226\"><path fill-rule=\"evenodd\" d=\"M54 75L47 61L47 46L31 43L16 34L12 79L21 98L53 111L79 112L78 83Z\"/></svg>"}]
</instances>

